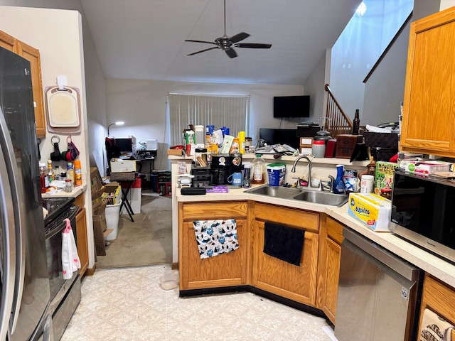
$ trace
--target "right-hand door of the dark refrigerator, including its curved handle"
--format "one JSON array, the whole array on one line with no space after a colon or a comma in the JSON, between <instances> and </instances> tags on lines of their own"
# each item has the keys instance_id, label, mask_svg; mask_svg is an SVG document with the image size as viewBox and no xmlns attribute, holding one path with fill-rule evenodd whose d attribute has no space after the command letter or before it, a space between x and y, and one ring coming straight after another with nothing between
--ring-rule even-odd
<instances>
[{"instance_id":1,"label":"right-hand door of the dark refrigerator, including its curved handle","mask_svg":"<svg viewBox=\"0 0 455 341\"><path fill-rule=\"evenodd\" d=\"M16 229L16 274L8 340L28 340L49 302L43 207L30 63L0 48L0 144ZM3 183L2 185L6 185Z\"/></svg>"}]
</instances>

